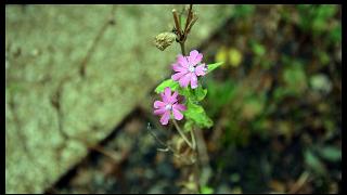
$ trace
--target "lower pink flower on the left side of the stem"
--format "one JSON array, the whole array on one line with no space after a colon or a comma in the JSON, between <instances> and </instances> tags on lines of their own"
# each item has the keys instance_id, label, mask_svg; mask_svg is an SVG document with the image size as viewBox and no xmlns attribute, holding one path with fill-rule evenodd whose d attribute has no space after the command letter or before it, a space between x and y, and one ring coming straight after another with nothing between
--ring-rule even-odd
<instances>
[{"instance_id":1,"label":"lower pink flower on the left side of the stem","mask_svg":"<svg viewBox=\"0 0 347 195\"><path fill-rule=\"evenodd\" d=\"M183 118L182 110L187 107L183 104L179 104L179 98L177 91L171 95L171 89L165 88L164 92L160 93L162 101L154 102L154 114L162 115L160 123L166 126L170 119L171 113L176 120L181 120Z\"/></svg>"}]
</instances>

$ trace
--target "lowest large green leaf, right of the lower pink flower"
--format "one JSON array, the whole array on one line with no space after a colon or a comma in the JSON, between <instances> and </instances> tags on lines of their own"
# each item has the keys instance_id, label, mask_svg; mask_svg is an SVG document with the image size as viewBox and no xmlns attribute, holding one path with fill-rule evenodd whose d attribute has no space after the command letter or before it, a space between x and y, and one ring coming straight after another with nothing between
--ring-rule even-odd
<instances>
[{"instance_id":1,"label":"lowest large green leaf, right of the lower pink flower","mask_svg":"<svg viewBox=\"0 0 347 195\"><path fill-rule=\"evenodd\" d=\"M205 109L190 100L188 100L184 116L193 120L200 128L210 128L214 125L214 121L207 116Z\"/></svg>"}]
</instances>

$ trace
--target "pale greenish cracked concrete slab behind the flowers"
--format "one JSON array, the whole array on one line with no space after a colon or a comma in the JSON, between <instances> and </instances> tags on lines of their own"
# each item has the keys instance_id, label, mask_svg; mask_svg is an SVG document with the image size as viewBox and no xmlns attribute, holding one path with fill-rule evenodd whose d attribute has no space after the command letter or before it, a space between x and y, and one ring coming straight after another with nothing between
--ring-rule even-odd
<instances>
[{"instance_id":1,"label":"pale greenish cracked concrete slab behind the flowers","mask_svg":"<svg viewBox=\"0 0 347 195\"><path fill-rule=\"evenodd\" d=\"M149 98L180 50L152 46L174 8L5 6L7 193L44 192ZM195 9L192 48L232 13Z\"/></svg>"}]
</instances>

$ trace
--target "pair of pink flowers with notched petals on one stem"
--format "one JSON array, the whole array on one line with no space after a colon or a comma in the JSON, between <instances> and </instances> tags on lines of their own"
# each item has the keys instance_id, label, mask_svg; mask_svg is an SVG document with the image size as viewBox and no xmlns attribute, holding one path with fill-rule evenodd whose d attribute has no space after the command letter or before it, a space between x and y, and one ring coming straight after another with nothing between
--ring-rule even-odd
<instances>
[{"instance_id":1,"label":"pair of pink flowers with notched petals on one stem","mask_svg":"<svg viewBox=\"0 0 347 195\"><path fill-rule=\"evenodd\" d=\"M189 84L192 89L197 88L197 77L205 76L207 74L207 67L202 63L203 54L196 50L190 52L189 56L178 55L176 63L172 64L172 69L176 72L171 79L178 81L180 87L188 88ZM160 115L160 123L167 125L169 119L181 120L183 115L181 112L187 107L181 103L182 99L178 94L178 91L174 91L170 88L165 88L160 93L162 101L154 102L154 114Z\"/></svg>"}]
</instances>

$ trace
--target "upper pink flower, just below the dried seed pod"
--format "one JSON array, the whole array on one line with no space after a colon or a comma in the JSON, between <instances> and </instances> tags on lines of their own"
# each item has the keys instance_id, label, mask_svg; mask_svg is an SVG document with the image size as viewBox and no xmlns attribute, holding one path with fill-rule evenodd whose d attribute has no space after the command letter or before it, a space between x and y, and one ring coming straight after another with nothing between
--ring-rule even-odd
<instances>
[{"instance_id":1,"label":"upper pink flower, just below the dried seed pod","mask_svg":"<svg viewBox=\"0 0 347 195\"><path fill-rule=\"evenodd\" d=\"M192 89L197 88L197 76L204 76L207 72L206 65L200 64L202 60L203 54L196 50L191 51L189 56L178 55L177 62L172 64L172 69L178 73L172 75L171 79L179 81L182 88L188 87L189 83Z\"/></svg>"}]
</instances>

